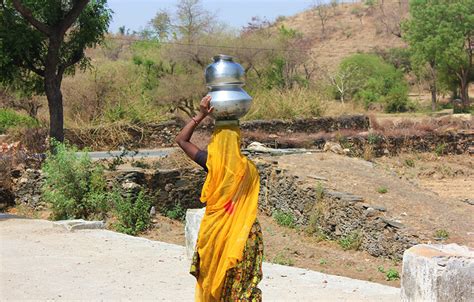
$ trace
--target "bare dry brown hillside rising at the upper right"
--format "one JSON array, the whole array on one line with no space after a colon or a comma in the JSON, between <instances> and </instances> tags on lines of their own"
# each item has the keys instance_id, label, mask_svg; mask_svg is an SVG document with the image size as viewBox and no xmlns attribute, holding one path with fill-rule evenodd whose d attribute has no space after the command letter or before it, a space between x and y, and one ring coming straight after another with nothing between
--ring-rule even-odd
<instances>
[{"instance_id":1,"label":"bare dry brown hillside rising at the upper right","mask_svg":"<svg viewBox=\"0 0 474 302\"><path fill-rule=\"evenodd\" d=\"M395 2L373 6L345 3L327 6L321 13L315 8L308 9L277 25L301 32L310 41L315 61L334 68L351 53L405 46L401 38L390 31L399 32L400 16L406 16L406 12L406 3L400 6ZM324 34L320 15L326 19Z\"/></svg>"}]
</instances>

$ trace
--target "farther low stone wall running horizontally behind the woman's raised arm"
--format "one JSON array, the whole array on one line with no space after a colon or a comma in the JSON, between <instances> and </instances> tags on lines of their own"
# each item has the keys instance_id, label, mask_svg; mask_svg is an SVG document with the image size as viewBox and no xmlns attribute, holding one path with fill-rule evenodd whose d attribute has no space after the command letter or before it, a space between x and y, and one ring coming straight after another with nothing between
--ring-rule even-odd
<instances>
[{"instance_id":1,"label":"farther low stone wall running horizontally behind the woman's raised arm","mask_svg":"<svg viewBox=\"0 0 474 302\"><path fill-rule=\"evenodd\" d=\"M161 148L175 145L174 139L182 126L182 122L172 120L155 124L65 129L65 137L80 148L88 147L93 150L112 150L119 147ZM442 154L462 154L474 150L474 130L472 129L450 132L431 131L416 135L384 135L369 133L369 127L369 118L365 115L293 121L247 121L241 124L245 144L259 141L274 148L323 149L326 142L337 141L343 148L349 148L353 156L362 156L367 148L372 149L373 156L396 155L400 152L434 152L435 150L443 151ZM196 132L209 136L212 129L211 123L203 123ZM44 142L45 136L45 131L39 131L35 134L35 141Z\"/></svg>"}]
</instances>

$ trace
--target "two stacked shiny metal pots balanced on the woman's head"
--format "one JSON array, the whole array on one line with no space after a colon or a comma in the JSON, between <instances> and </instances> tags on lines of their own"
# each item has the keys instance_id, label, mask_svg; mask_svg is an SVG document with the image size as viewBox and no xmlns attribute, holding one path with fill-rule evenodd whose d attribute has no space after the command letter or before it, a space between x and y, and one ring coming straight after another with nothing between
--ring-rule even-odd
<instances>
[{"instance_id":1,"label":"two stacked shiny metal pots balanced on the woman's head","mask_svg":"<svg viewBox=\"0 0 474 302\"><path fill-rule=\"evenodd\" d=\"M237 121L250 109L252 97L242 89L244 69L231 56L217 55L206 68L206 84L216 121Z\"/></svg>"}]
</instances>

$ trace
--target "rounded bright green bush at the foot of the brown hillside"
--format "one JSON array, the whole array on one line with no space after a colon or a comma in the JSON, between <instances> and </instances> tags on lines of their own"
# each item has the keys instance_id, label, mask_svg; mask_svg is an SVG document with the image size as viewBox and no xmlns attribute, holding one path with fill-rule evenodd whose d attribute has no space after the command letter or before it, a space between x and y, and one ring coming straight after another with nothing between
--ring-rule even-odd
<instances>
[{"instance_id":1,"label":"rounded bright green bush at the foot of the brown hillside","mask_svg":"<svg viewBox=\"0 0 474 302\"><path fill-rule=\"evenodd\" d=\"M374 103L384 105L387 112L402 112L410 109L408 84L403 73L382 58L373 54L355 54L344 59L340 72L354 70L346 80L351 86L351 97L369 108Z\"/></svg>"}]
</instances>

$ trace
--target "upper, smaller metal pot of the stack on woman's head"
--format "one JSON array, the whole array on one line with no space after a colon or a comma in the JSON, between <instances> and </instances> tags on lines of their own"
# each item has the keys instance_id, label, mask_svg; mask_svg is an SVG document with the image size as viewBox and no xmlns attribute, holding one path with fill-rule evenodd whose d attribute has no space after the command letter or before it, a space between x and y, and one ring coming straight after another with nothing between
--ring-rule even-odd
<instances>
[{"instance_id":1,"label":"upper, smaller metal pot of the stack on woman's head","mask_svg":"<svg viewBox=\"0 0 474 302\"><path fill-rule=\"evenodd\" d=\"M244 69L235 63L231 56L217 55L214 62L206 68L208 87L244 83Z\"/></svg>"}]
</instances>

